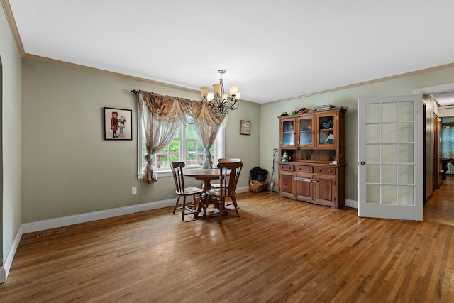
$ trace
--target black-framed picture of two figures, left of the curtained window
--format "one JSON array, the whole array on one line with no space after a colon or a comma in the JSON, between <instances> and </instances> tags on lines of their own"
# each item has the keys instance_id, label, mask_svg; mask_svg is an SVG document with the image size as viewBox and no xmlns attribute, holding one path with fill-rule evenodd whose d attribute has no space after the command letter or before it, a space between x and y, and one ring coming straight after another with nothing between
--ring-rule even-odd
<instances>
[{"instance_id":1,"label":"black-framed picture of two figures, left of the curtained window","mask_svg":"<svg viewBox=\"0 0 454 303\"><path fill-rule=\"evenodd\" d=\"M132 109L104 107L104 139L133 140Z\"/></svg>"}]
</instances>

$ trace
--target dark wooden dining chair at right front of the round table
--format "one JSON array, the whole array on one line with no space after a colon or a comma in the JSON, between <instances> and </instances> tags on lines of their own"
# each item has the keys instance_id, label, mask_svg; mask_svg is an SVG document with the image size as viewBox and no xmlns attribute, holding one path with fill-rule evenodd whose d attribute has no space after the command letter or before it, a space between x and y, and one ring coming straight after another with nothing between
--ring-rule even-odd
<instances>
[{"instance_id":1,"label":"dark wooden dining chair at right front of the round table","mask_svg":"<svg viewBox=\"0 0 454 303\"><path fill-rule=\"evenodd\" d=\"M238 212L238 204L236 203L235 190L238 179L240 178L240 172L243 168L243 162L220 162L218 163L219 171L219 184L218 189L211 189L207 194L211 197L218 199L219 202L219 222L222 222L222 214L224 210L235 211L236 216L240 216ZM231 198L232 202L226 204L226 198ZM234 209L230 209L227 206L233 205Z\"/></svg>"}]
</instances>

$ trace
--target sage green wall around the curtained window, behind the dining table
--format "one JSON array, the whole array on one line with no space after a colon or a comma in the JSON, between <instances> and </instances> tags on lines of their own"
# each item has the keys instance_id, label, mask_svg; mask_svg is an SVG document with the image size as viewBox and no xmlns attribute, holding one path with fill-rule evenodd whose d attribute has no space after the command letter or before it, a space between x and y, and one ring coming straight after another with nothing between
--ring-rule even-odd
<instances>
[{"instance_id":1,"label":"sage green wall around the curtained window, behind the dining table","mask_svg":"<svg viewBox=\"0 0 454 303\"><path fill-rule=\"evenodd\" d=\"M194 100L199 92L31 59L23 59L22 69L23 223L175 198L171 177L155 184L137 179L131 89ZM133 110L133 141L104 141L104 106ZM239 134L240 120L251 121L250 136ZM259 126L258 104L240 102L228 113L226 157L245 163L238 187L248 187L249 170L260 164Z\"/></svg>"}]
</instances>

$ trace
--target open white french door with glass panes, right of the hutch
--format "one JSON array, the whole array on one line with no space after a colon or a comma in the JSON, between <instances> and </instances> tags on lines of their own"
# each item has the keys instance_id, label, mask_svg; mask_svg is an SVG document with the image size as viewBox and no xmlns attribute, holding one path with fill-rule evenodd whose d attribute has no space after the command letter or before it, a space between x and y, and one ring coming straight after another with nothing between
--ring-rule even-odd
<instances>
[{"instance_id":1,"label":"open white french door with glass panes, right of the hutch","mask_svg":"<svg viewBox=\"0 0 454 303\"><path fill-rule=\"evenodd\" d=\"M358 216L423 219L422 95L358 98Z\"/></svg>"}]
</instances>

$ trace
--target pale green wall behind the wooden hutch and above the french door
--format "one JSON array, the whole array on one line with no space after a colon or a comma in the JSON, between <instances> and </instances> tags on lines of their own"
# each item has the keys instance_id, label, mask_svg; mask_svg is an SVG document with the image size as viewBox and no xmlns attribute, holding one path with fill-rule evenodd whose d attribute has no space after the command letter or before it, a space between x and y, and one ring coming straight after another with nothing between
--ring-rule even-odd
<instances>
[{"instance_id":1,"label":"pale green wall behind the wooden hutch and above the french door","mask_svg":"<svg viewBox=\"0 0 454 303\"><path fill-rule=\"evenodd\" d=\"M315 94L309 97L300 97L287 101L276 101L262 106L261 113L261 137L260 137L260 164L267 170L272 167L272 149L279 148L279 116L282 111L295 111L306 107L311 109L322 104L334 106L347 106L345 116L345 154L347 167L345 170L345 199L358 200L358 97L394 96L412 94L413 89L432 87L454 82L454 67L441 70L421 72L406 77L383 80L372 84L364 84L348 89L340 89L334 92ZM304 85L304 83L301 83ZM270 100L271 101L271 100ZM421 146L421 148L423 148ZM276 169L276 168L275 168ZM275 173L277 184L277 172Z\"/></svg>"}]
</instances>

